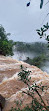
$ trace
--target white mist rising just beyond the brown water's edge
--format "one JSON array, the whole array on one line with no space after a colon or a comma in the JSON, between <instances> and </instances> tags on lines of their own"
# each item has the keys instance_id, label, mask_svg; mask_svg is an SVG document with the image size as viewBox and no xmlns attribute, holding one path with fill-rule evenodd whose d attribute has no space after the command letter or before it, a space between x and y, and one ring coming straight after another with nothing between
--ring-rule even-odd
<instances>
[{"instance_id":1,"label":"white mist rising just beyond the brown water's edge","mask_svg":"<svg viewBox=\"0 0 49 111\"><path fill-rule=\"evenodd\" d=\"M37 57L37 55L34 53L20 53L20 52L14 52L13 59L24 61L27 59L27 57L33 59L34 57ZM46 61L43 63L43 65L40 67L43 71L46 71L49 74L49 61Z\"/></svg>"}]
</instances>

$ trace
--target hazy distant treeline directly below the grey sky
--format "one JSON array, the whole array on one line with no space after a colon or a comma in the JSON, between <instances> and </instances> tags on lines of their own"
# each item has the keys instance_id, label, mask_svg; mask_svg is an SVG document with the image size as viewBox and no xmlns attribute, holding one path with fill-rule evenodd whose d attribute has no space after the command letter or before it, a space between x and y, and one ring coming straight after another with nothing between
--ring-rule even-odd
<instances>
[{"instance_id":1,"label":"hazy distant treeline directly below the grey sky","mask_svg":"<svg viewBox=\"0 0 49 111\"><path fill-rule=\"evenodd\" d=\"M35 43L25 43L16 42L15 51L19 52L32 52L32 53L46 53L48 52L48 47L46 43L35 42Z\"/></svg>"}]
</instances>

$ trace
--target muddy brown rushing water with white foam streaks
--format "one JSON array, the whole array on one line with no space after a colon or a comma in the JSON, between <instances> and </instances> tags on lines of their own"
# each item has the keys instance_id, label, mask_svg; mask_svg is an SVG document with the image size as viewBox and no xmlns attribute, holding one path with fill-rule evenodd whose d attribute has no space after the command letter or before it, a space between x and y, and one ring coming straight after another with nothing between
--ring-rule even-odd
<instances>
[{"instance_id":1,"label":"muddy brown rushing water with white foam streaks","mask_svg":"<svg viewBox=\"0 0 49 111\"><path fill-rule=\"evenodd\" d=\"M47 86L47 89L41 95L46 104L49 104L49 75L46 72L22 61L0 56L0 94L6 99L3 111L9 111L11 107L16 107L14 101L17 100L22 101L22 107L31 102L30 97L26 94L22 95L22 90L26 90L27 86L18 78L18 73L21 71L20 65L31 71L31 84L42 82L44 86Z\"/></svg>"}]
</instances>

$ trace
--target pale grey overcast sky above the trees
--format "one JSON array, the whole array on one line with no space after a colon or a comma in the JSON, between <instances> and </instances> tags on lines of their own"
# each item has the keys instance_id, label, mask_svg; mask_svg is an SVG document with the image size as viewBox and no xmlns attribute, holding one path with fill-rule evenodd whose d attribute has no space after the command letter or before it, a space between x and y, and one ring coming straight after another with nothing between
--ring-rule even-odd
<instances>
[{"instance_id":1,"label":"pale grey overcast sky above the trees","mask_svg":"<svg viewBox=\"0 0 49 111\"><path fill-rule=\"evenodd\" d=\"M23 42L44 41L37 35L36 29L49 21L46 14L49 13L49 4L40 9L40 0L0 0L0 24L6 32L11 33L9 39ZM44 20L45 19L45 20ZM43 22L44 20L44 22Z\"/></svg>"}]
</instances>

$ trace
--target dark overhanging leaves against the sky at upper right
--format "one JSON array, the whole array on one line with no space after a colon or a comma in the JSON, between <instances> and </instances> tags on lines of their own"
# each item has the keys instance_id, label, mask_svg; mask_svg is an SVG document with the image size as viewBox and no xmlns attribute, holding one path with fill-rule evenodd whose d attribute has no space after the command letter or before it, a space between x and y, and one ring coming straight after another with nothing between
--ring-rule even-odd
<instances>
[{"instance_id":1,"label":"dark overhanging leaves against the sky at upper right","mask_svg":"<svg viewBox=\"0 0 49 111\"><path fill-rule=\"evenodd\" d=\"M44 0L40 0L40 1L41 1L41 2L40 2L40 9L42 9ZM31 2L31 0L30 0L30 2ZM30 2L27 3L27 7L30 6ZM49 0L47 0L47 3L49 3ZM47 3L46 3L46 4L47 4ZM46 5L46 4L45 4L45 5ZM49 14L49 13L48 13L48 14ZM48 16L48 14L47 14L47 16ZM43 25L43 28L41 27L40 30L37 29L36 31L37 31L38 35L40 36L40 38L42 38L43 36L45 36L45 37L46 37L46 40L47 40L48 43L49 43L49 35L46 36L46 33L45 33L48 29L49 29L49 25L48 25L48 22L47 22L46 25ZM48 47L49 47L49 45L48 45Z\"/></svg>"}]
</instances>

